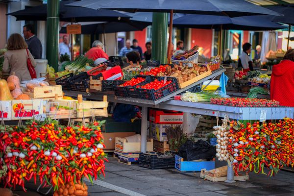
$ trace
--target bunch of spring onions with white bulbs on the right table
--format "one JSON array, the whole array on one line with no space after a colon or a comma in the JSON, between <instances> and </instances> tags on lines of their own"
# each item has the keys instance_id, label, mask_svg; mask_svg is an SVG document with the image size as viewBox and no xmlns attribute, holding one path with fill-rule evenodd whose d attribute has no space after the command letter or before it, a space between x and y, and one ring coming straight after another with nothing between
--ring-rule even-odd
<instances>
[{"instance_id":1,"label":"bunch of spring onions with white bulbs on the right table","mask_svg":"<svg viewBox=\"0 0 294 196\"><path fill-rule=\"evenodd\" d=\"M214 93L206 93L204 91L199 93L191 93L189 91L185 92L181 95L182 101L190 101L190 102L207 102L210 101L211 98L219 98L220 95Z\"/></svg>"}]
</instances>

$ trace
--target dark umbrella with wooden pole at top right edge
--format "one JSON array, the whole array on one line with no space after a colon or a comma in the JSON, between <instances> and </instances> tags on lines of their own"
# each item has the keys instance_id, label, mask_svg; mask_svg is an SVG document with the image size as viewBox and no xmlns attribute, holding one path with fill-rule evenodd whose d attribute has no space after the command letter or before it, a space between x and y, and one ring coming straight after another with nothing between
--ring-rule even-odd
<instances>
[{"instance_id":1,"label":"dark umbrella with wooden pole at top right edge","mask_svg":"<svg viewBox=\"0 0 294 196\"><path fill-rule=\"evenodd\" d=\"M288 42L287 42L287 49L289 48L289 38L290 38L290 31L291 31L291 25L294 25L294 4L291 5L274 5L274 6L268 6L267 8L283 13L284 16L275 16L272 17L273 22L277 23L284 23L288 24Z\"/></svg>"}]
</instances>

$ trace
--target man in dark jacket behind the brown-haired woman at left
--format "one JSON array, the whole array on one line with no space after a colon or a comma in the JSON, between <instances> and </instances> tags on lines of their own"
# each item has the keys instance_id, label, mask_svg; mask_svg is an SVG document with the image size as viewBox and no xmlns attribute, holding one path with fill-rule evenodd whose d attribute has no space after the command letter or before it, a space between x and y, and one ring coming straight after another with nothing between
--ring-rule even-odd
<instances>
[{"instance_id":1,"label":"man in dark jacket behind the brown-haired woman at left","mask_svg":"<svg viewBox=\"0 0 294 196\"><path fill-rule=\"evenodd\" d=\"M25 42L34 59L42 58L42 44L37 36L34 34L33 25L27 24L23 28Z\"/></svg>"}]
</instances>

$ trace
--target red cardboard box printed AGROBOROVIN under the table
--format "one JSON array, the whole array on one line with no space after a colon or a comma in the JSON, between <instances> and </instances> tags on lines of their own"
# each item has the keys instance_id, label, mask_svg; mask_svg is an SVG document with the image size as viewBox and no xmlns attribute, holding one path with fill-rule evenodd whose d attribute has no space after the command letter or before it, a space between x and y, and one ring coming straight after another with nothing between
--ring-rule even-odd
<instances>
[{"instance_id":1,"label":"red cardboard box printed AGROBOROVIN under the table","mask_svg":"<svg viewBox=\"0 0 294 196\"><path fill-rule=\"evenodd\" d=\"M158 124L182 124L183 112L149 110L149 120Z\"/></svg>"}]
</instances>

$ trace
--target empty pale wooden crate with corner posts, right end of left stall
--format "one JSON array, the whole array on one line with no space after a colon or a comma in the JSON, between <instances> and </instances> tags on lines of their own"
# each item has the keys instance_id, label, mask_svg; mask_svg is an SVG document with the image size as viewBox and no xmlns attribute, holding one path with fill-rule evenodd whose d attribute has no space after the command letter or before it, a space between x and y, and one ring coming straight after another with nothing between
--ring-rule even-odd
<instances>
[{"instance_id":1,"label":"empty pale wooden crate with corner posts, right end of left stall","mask_svg":"<svg viewBox=\"0 0 294 196\"><path fill-rule=\"evenodd\" d=\"M108 117L107 107L107 96L103 96L103 101L84 101L82 95L77 96L77 118L92 116Z\"/></svg>"}]
</instances>

